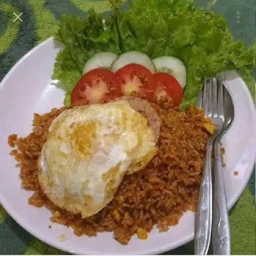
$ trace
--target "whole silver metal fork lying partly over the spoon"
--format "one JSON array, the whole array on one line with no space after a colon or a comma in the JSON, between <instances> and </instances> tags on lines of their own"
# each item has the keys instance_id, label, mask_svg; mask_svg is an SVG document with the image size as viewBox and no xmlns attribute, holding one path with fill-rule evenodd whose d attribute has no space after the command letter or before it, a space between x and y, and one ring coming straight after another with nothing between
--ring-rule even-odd
<instances>
[{"instance_id":1,"label":"whole silver metal fork lying partly over the spoon","mask_svg":"<svg viewBox=\"0 0 256 256\"><path fill-rule=\"evenodd\" d=\"M195 220L195 254L208 252L212 225L212 178L211 152L214 139L221 133L224 122L223 84L217 78L205 78L203 89L197 99L197 107L215 124L215 133L207 138L203 177Z\"/></svg>"}]
</instances>

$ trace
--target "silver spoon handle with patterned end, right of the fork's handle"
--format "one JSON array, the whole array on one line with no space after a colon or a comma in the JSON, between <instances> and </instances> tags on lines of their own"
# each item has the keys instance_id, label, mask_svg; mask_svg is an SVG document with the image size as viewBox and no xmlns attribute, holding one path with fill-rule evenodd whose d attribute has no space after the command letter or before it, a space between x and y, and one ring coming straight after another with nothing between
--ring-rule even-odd
<instances>
[{"instance_id":1,"label":"silver spoon handle with patterned end, right of the fork's handle","mask_svg":"<svg viewBox=\"0 0 256 256\"><path fill-rule=\"evenodd\" d=\"M212 249L215 255L230 255L230 230L220 137L214 143L214 204L212 212Z\"/></svg>"}]
</instances>

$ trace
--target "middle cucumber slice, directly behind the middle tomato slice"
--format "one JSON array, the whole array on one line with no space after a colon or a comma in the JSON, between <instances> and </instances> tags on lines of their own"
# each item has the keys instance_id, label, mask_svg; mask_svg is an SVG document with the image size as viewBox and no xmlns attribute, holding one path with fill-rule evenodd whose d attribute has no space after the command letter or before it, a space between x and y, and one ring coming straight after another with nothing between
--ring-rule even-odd
<instances>
[{"instance_id":1,"label":"middle cucumber slice, directly behind the middle tomato slice","mask_svg":"<svg viewBox=\"0 0 256 256\"><path fill-rule=\"evenodd\" d=\"M152 73L156 72L156 67L150 57L142 52L131 51L121 54L112 64L111 71L117 72L120 68L128 64L139 64L150 70Z\"/></svg>"}]
</instances>

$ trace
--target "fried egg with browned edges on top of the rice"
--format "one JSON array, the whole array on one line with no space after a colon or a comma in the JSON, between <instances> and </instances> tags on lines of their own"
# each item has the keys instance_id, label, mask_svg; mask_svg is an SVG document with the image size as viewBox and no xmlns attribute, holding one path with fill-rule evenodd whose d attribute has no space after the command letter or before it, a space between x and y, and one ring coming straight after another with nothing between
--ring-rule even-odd
<instances>
[{"instance_id":1,"label":"fried egg with browned edges on top of the rice","mask_svg":"<svg viewBox=\"0 0 256 256\"><path fill-rule=\"evenodd\" d=\"M39 183L54 204L86 218L111 202L124 175L144 168L156 151L147 119L128 102L76 106L49 128Z\"/></svg>"}]
</instances>

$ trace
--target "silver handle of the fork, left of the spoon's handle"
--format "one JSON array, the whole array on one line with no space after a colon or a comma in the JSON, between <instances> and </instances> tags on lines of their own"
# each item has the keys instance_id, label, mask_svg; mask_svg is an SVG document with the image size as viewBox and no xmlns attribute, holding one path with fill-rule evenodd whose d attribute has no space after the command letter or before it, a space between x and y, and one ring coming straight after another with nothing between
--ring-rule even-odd
<instances>
[{"instance_id":1,"label":"silver handle of the fork, left of the spoon's handle","mask_svg":"<svg viewBox=\"0 0 256 256\"><path fill-rule=\"evenodd\" d=\"M203 177L195 220L195 255L206 255L210 245L212 220L211 181L212 140L207 141Z\"/></svg>"}]
</instances>

